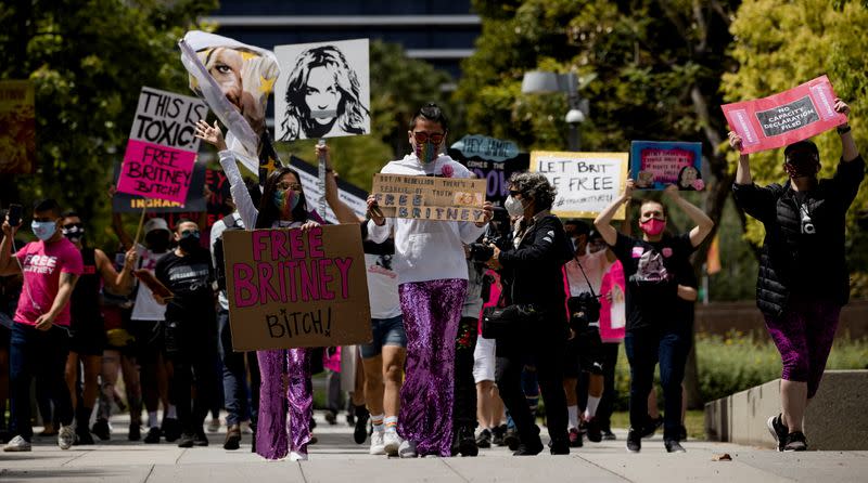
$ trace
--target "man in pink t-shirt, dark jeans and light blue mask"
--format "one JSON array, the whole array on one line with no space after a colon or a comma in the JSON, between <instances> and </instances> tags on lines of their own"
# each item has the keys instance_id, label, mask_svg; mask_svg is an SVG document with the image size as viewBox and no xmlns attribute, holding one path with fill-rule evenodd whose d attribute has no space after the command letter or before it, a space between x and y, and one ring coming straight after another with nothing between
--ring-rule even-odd
<instances>
[{"instance_id":1,"label":"man in pink t-shirt, dark jeans and light blue mask","mask_svg":"<svg viewBox=\"0 0 868 483\"><path fill-rule=\"evenodd\" d=\"M69 352L69 298L81 275L81 253L61 232L61 208L53 199L34 205L30 224L39 238L12 253L18 226L3 222L0 243L0 276L24 275L24 287L12 326L10 380L12 392L11 433L15 436L3 447L7 452L29 452L30 382L41 378L54 395L58 419L58 446L68 449L75 441L69 391L64 368ZM14 257L14 259L13 259Z\"/></svg>"}]
</instances>

